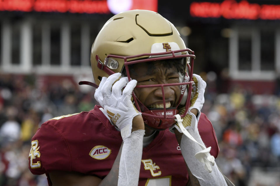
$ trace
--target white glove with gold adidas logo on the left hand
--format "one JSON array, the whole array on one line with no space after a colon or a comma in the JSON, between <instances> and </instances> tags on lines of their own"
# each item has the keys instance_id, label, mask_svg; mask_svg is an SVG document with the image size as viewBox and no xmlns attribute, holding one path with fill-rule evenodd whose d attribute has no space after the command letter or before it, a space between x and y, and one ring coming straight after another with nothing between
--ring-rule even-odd
<instances>
[{"instance_id":1,"label":"white glove with gold adidas logo on the left hand","mask_svg":"<svg viewBox=\"0 0 280 186\"><path fill-rule=\"evenodd\" d=\"M137 81L128 82L127 77L119 79L120 76L121 73L115 73L108 78L102 77L99 87L95 90L94 98L104 108L100 110L109 121L121 130L121 137L124 139L131 135L133 118L141 113L131 102L131 94ZM124 86L126 87L121 91Z\"/></svg>"}]
</instances>

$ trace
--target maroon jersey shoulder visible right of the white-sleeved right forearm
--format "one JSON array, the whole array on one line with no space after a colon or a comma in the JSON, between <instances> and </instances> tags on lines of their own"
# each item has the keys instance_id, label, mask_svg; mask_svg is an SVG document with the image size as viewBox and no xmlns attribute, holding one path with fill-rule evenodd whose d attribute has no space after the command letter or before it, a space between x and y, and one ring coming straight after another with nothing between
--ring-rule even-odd
<instances>
[{"instance_id":1,"label":"maroon jersey shoulder visible right of the white-sleeved right forearm","mask_svg":"<svg viewBox=\"0 0 280 186\"><path fill-rule=\"evenodd\" d=\"M211 121L204 113L201 113L197 127L205 146L211 146L210 154L216 158L220 152L218 140Z\"/></svg>"}]
</instances>

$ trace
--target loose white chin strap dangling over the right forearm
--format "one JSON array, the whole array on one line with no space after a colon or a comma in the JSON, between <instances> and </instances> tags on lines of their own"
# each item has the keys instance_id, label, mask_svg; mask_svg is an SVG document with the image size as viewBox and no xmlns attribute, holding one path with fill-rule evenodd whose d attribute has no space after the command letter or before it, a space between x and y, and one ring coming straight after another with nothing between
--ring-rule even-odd
<instances>
[{"instance_id":1,"label":"loose white chin strap dangling over the right forearm","mask_svg":"<svg viewBox=\"0 0 280 186\"><path fill-rule=\"evenodd\" d=\"M189 134L189 132L187 131L187 129L185 129L185 127L182 124L182 118L179 114L176 114L175 117L177 119L175 119L175 121L177 121L181 131L183 132L183 134L185 134L185 136L187 136L189 139L191 139L192 141L194 141L195 143L199 144L199 146L203 149L199 152L197 152L194 157L196 157L196 159L198 159L200 162L204 163L204 169L206 171L208 171L209 173L212 172L212 168L211 166L213 166L215 164L215 158L214 156L210 155L210 150L211 147L206 148L204 145L200 144L199 142L197 142L194 137L192 137L191 134Z\"/></svg>"}]
</instances>

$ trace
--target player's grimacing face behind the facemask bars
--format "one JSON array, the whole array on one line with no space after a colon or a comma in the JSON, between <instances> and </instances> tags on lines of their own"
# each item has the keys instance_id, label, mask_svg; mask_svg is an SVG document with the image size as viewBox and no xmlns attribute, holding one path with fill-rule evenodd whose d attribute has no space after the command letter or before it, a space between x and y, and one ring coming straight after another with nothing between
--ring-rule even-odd
<instances>
[{"instance_id":1,"label":"player's grimacing face behind the facemask bars","mask_svg":"<svg viewBox=\"0 0 280 186\"><path fill-rule=\"evenodd\" d=\"M151 65L154 63L154 65ZM166 67L159 61L137 63L130 72L137 85L179 83L179 73L175 66ZM135 95L147 108L164 108L161 87L135 88ZM165 86L166 108L176 107L180 98L180 86Z\"/></svg>"}]
</instances>

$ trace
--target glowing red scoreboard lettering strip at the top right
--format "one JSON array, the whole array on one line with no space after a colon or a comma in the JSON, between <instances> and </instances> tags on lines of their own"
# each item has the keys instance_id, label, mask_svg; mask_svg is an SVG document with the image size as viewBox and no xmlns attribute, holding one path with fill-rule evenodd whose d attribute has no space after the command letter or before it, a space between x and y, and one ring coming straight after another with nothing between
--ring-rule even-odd
<instances>
[{"instance_id":1,"label":"glowing red scoreboard lettering strip at the top right","mask_svg":"<svg viewBox=\"0 0 280 186\"><path fill-rule=\"evenodd\" d=\"M242 0L225 0L222 3L192 2L190 5L192 17L224 17L226 19L248 20L279 20L280 5L260 5Z\"/></svg>"}]
</instances>

